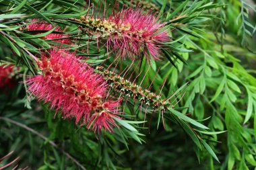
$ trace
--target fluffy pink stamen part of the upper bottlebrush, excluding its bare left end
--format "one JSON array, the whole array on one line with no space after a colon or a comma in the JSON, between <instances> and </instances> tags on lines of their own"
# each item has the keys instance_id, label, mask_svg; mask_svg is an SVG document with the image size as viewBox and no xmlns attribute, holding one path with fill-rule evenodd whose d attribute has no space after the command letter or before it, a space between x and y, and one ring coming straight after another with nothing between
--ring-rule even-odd
<instances>
[{"instance_id":1,"label":"fluffy pink stamen part of the upper bottlebrush, excluding its bare left end","mask_svg":"<svg viewBox=\"0 0 256 170\"><path fill-rule=\"evenodd\" d=\"M115 22L117 26L125 26L123 36L108 38L110 44L115 50L120 48L122 56L129 56L134 59L134 55L140 52L146 55L150 60L150 55L154 59L160 58L160 46L168 42L168 30L163 30L163 24L160 24L152 14L143 14L141 10L127 9L108 20ZM114 40L113 40L114 39Z\"/></svg>"}]
</instances>

